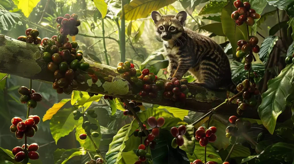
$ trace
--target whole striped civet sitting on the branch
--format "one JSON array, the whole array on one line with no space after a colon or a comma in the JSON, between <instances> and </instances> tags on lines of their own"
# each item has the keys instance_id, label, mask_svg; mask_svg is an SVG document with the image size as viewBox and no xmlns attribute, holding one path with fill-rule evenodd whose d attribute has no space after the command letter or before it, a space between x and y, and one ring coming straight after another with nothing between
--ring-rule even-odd
<instances>
[{"instance_id":1,"label":"whole striped civet sitting on the branch","mask_svg":"<svg viewBox=\"0 0 294 164\"><path fill-rule=\"evenodd\" d=\"M187 13L163 15L153 11L156 35L163 42L169 60L170 77L181 79L189 71L196 84L208 88L232 84L230 63L226 53L214 40L183 27Z\"/></svg>"}]
</instances>

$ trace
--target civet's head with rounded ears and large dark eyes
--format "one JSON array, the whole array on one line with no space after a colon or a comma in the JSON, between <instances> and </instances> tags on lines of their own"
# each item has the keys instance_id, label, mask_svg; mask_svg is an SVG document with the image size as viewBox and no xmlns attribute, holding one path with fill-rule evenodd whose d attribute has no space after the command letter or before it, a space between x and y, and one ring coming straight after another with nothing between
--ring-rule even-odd
<instances>
[{"instance_id":1,"label":"civet's head with rounded ears and large dark eyes","mask_svg":"<svg viewBox=\"0 0 294 164\"><path fill-rule=\"evenodd\" d=\"M180 37L184 31L187 13L180 11L177 15L161 15L157 11L152 11L151 17L156 27L156 35L163 41L168 41Z\"/></svg>"}]
</instances>

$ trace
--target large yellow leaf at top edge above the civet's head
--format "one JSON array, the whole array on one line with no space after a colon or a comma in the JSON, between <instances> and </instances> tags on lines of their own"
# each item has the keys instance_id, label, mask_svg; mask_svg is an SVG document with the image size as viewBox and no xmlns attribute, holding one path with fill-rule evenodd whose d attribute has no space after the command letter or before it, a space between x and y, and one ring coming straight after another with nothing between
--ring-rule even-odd
<instances>
[{"instance_id":1,"label":"large yellow leaf at top edge above the civet's head","mask_svg":"<svg viewBox=\"0 0 294 164\"><path fill-rule=\"evenodd\" d=\"M172 4L176 0L133 0L123 6L126 20L146 18L152 11Z\"/></svg>"}]
</instances>

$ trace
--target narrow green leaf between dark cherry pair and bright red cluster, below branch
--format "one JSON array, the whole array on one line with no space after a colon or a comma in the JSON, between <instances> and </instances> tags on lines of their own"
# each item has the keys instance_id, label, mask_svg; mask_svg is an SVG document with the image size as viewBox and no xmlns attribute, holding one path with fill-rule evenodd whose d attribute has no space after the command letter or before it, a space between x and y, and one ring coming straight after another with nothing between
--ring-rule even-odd
<instances>
[{"instance_id":1,"label":"narrow green leaf between dark cherry pair and bright red cluster, below branch","mask_svg":"<svg viewBox=\"0 0 294 164\"><path fill-rule=\"evenodd\" d=\"M192 155L195 149L195 137L194 137L194 126L192 124L187 125L187 131L185 135L183 135L184 138L184 145L180 146L180 149L183 151L186 151L186 153Z\"/></svg>"}]
</instances>

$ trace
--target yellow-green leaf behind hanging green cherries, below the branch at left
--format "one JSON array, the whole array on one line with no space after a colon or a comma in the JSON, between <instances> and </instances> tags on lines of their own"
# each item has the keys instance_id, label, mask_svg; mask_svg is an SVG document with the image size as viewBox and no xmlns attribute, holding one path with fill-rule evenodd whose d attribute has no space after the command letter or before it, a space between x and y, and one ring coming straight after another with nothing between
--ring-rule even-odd
<instances>
[{"instance_id":1,"label":"yellow-green leaf behind hanging green cherries, below the branch at left","mask_svg":"<svg viewBox=\"0 0 294 164\"><path fill-rule=\"evenodd\" d=\"M100 125L99 125L99 122L94 119L94 118L91 118L90 116L88 116L88 121L90 123L95 123L97 126L98 126L98 129L97 130L91 130L91 132L98 132L100 135L99 137L92 137L94 143L96 144L96 146L99 148L99 145L100 145L100 142L101 142L101 138L102 138L102 135L101 135L101 128L100 128ZM83 129L82 127L82 124L83 124L83 119L80 118L78 120L78 125L76 127L76 140L80 143L80 145L82 147L84 147L85 149L89 149L89 150L92 150L92 151L96 151L95 147L93 146L91 140L87 137L86 139L84 140L81 140L80 139L80 134L85 134L85 130Z\"/></svg>"}]
</instances>

